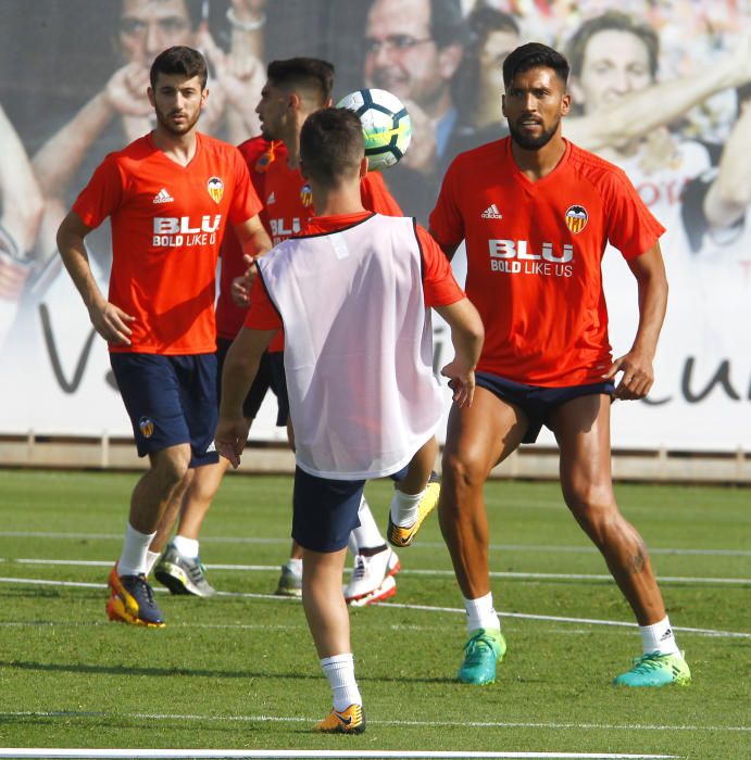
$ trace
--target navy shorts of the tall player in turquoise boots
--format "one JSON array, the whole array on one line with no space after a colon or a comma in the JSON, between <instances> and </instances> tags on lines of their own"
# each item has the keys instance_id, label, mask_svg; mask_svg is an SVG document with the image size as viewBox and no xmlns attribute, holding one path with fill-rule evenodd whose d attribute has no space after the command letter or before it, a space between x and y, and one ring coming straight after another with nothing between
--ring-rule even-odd
<instances>
[{"instance_id":1,"label":"navy shorts of the tall player in turquoise boots","mask_svg":"<svg viewBox=\"0 0 751 760\"><path fill-rule=\"evenodd\" d=\"M541 385L525 385L513 382L490 372L476 372L475 383L485 388L502 401L518 406L527 418L527 432L522 443L535 443L545 425L547 428L550 416L559 406L578 398L579 396L613 395L615 383L612 380L593 382L589 385L564 385L563 388L542 388Z\"/></svg>"}]
</instances>

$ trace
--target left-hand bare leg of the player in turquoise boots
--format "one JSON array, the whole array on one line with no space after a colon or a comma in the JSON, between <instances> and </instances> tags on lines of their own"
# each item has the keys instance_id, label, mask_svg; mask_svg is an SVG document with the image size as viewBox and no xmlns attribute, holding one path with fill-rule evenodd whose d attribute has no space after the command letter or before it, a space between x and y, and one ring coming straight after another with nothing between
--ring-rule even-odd
<instances>
[{"instance_id":1,"label":"left-hand bare leg of the player in turquoise boots","mask_svg":"<svg viewBox=\"0 0 751 760\"><path fill-rule=\"evenodd\" d=\"M520 409L484 388L475 390L471 407L451 407L438 518L459 587L467 599L490 592L483 486L490 470L518 446L526 429Z\"/></svg>"}]
</instances>

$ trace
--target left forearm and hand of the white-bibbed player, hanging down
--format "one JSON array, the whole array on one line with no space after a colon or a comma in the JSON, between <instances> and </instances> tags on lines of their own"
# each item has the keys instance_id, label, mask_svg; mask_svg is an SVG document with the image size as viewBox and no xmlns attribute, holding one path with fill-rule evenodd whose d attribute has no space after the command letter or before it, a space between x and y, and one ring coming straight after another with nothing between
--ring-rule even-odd
<instances>
[{"instance_id":1,"label":"left forearm and hand of the white-bibbed player, hanging down","mask_svg":"<svg viewBox=\"0 0 751 760\"><path fill-rule=\"evenodd\" d=\"M216 451L237 469L248 440L250 422L242 415L242 402L255 379L263 352L276 330L243 327L227 351L222 370L222 402L214 434Z\"/></svg>"}]
</instances>

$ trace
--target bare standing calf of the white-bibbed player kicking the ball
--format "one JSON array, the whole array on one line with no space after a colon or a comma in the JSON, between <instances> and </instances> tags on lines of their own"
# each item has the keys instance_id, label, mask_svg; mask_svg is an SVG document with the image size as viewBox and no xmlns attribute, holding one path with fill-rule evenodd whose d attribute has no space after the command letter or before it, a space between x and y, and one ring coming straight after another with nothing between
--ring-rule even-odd
<instances>
[{"instance_id":1,"label":"bare standing calf of the white-bibbed player kicking the ball","mask_svg":"<svg viewBox=\"0 0 751 760\"><path fill-rule=\"evenodd\" d=\"M302 549L302 606L318 657L352 651L349 612L341 593L347 547L338 552Z\"/></svg>"}]
</instances>

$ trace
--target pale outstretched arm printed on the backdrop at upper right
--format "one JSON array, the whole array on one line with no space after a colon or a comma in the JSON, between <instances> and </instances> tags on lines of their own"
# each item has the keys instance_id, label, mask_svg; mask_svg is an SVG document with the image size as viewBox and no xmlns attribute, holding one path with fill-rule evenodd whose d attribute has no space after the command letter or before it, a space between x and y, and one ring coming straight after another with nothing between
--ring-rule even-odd
<instances>
[{"instance_id":1,"label":"pale outstretched arm printed on the backdrop at upper right","mask_svg":"<svg viewBox=\"0 0 751 760\"><path fill-rule=\"evenodd\" d=\"M671 79L631 92L587 116L568 116L565 135L577 145L598 151L643 137L669 124L719 90L751 80L751 34L743 34L733 52L715 66L689 77Z\"/></svg>"}]
</instances>

